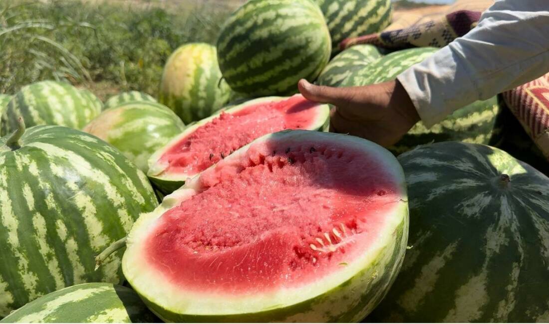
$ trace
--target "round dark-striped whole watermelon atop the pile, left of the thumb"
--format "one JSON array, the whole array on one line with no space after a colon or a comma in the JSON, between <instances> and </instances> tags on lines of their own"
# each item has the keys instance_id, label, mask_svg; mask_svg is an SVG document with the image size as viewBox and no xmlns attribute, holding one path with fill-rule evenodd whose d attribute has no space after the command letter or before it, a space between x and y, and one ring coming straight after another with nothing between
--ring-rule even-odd
<instances>
[{"instance_id":1,"label":"round dark-striped whole watermelon atop the pile, left of the thumb","mask_svg":"<svg viewBox=\"0 0 549 324\"><path fill-rule=\"evenodd\" d=\"M234 12L217 39L223 78L247 96L289 95L328 64L332 45L312 0L250 0Z\"/></svg>"}]
</instances>

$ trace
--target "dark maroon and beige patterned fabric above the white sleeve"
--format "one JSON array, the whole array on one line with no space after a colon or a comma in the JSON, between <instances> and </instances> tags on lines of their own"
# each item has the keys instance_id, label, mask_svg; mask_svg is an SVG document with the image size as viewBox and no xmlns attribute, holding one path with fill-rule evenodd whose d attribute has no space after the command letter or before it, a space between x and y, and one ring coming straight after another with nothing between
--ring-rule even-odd
<instances>
[{"instance_id":1,"label":"dark maroon and beige patterned fabric above the white sleeve","mask_svg":"<svg viewBox=\"0 0 549 324\"><path fill-rule=\"evenodd\" d=\"M340 48L343 50L356 44L373 44L390 49L444 47L473 29L480 15L481 12L459 10L405 29L347 38L341 42Z\"/></svg>"}]
</instances>

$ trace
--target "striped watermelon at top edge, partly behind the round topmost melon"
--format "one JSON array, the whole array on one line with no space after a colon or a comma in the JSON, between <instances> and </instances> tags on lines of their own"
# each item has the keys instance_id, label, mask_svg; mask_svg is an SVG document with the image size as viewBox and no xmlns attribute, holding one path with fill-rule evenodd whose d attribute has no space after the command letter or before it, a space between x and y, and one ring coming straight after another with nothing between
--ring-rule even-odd
<instances>
[{"instance_id":1,"label":"striped watermelon at top edge, partly behind the round topmost melon","mask_svg":"<svg viewBox=\"0 0 549 324\"><path fill-rule=\"evenodd\" d=\"M345 38L376 33L391 23L391 0L315 0L326 17L332 52Z\"/></svg>"}]
</instances>

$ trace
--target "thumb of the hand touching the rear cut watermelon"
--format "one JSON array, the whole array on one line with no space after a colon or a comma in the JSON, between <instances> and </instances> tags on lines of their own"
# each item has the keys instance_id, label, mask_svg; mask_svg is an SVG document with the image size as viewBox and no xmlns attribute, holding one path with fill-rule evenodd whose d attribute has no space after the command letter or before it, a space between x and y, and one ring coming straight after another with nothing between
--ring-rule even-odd
<instances>
[{"instance_id":1,"label":"thumb of the hand touching the rear cut watermelon","mask_svg":"<svg viewBox=\"0 0 549 324\"><path fill-rule=\"evenodd\" d=\"M334 88L326 86L315 86L306 79L298 83L299 92L307 100L317 103L332 104L337 107L348 106L353 95L352 88Z\"/></svg>"}]
</instances>

